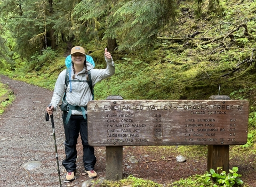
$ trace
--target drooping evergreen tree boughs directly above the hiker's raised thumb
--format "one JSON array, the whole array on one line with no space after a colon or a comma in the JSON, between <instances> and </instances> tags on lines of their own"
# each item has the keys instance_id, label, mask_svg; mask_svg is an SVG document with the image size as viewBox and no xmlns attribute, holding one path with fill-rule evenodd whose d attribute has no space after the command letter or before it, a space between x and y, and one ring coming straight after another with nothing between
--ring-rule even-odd
<instances>
[{"instance_id":1,"label":"drooping evergreen tree boughs directly above the hiker's raised thumb","mask_svg":"<svg viewBox=\"0 0 256 187\"><path fill-rule=\"evenodd\" d=\"M87 33L94 37L105 29L103 39L113 51L117 40L119 50L152 45L158 30L174 19L176 8L174 0L87 0L77 4L73 17L81 21L78 25L86 24Z\"/></svg>"}]
</instances>

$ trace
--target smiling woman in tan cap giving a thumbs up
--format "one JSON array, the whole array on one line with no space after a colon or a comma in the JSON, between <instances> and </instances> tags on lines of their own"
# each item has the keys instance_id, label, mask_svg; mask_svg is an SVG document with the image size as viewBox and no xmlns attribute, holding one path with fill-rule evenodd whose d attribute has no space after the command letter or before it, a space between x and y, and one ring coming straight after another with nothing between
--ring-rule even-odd
<instances>
[{"instance_id":1,"label":"smiling woman in tan cap giving a thumbs up","mask_svg":"<svg viewBox=\"0 0 256 187\"><path fill-rule=\"evenodd\" d=\"M94 86L100 80L110 77L115 73L114 61L111 54L107 52L107 48L105 48L106 69L93 69L92 64L86 62L84 48L80 46L71 49L71 60L72 65L70 69L67 69L67 72L63 70L60 73L55 83L51 103L46 108L47 113L52 115L53 111L57 110L63 94L65 94L60 107L63 111L62 119L66 137L64 142L66 159L62 161L62 165L67 170L67 181L73 181L75 179L76 144L79 132L83 144L85 172L89 175L89 178L97 177L97 173L94 171L96 162L94 148L87 141L87 103L93 100L93 91L89 86L89 79L91 77L91 82ZM67 77L69 77L68 84Z\"/></svg>"}]
</instances>

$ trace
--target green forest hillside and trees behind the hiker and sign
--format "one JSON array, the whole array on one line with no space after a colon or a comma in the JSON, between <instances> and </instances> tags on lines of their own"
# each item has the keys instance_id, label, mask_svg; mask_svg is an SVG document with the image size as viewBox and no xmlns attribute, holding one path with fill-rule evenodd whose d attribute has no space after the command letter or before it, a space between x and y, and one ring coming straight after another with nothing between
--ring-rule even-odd
<instances>
[{"instance_id":1,"label":"green forest hillside and trees behind the hiker and sign","mask_svg":"<svg viewBox=\"0 0 256 187\"><path fill-rule=\"evenodd\" d=\"M99 69L107 47L116 73L94 87L96 100L248 100L248 141L232 153L251 155L255 12L254 0L1 0L0 73L53 90L71 47L83 46Z\"/></svg>"}]
</instances>

